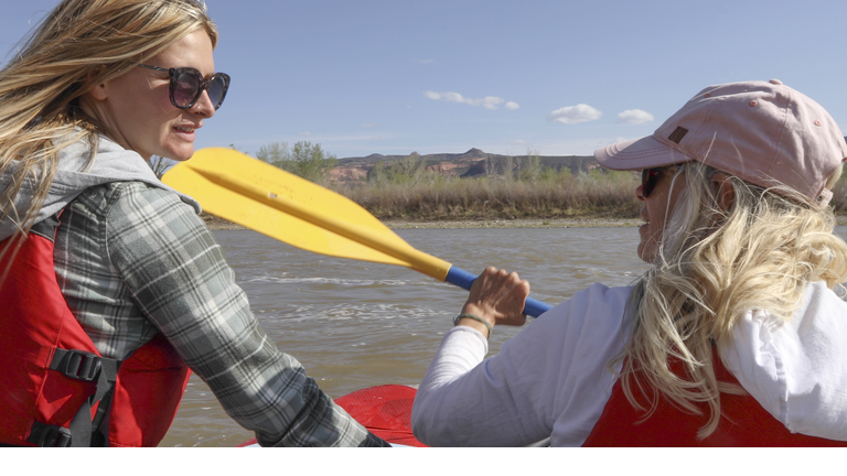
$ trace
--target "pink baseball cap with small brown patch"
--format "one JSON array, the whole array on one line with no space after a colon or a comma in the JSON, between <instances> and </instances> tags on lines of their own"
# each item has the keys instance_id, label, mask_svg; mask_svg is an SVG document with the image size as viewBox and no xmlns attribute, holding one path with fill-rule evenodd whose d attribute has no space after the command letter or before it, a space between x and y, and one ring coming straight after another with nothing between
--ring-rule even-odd
<instances>
[{"instance_id":1,"label":"pink baseball cap with small brown patch","mask_svg":"<svg viewBox=\"0 0 847 476\"><path fill-rule=\"evenodd\" d=\"M696 160L825 205L832 197L826 181L847 158L847 142L821 105L771 79L709 86L653 136L598 149L594 158L612 170Z\"/></svg>"}]
</instances>

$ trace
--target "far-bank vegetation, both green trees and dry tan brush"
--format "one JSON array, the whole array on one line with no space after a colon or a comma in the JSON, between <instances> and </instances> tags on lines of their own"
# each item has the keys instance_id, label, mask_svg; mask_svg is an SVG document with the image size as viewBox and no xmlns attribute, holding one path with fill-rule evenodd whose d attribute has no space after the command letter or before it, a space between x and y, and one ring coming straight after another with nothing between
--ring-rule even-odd
<instances>
[{"instance_id":1,"label":"far-bank vegetation, both green trees and dry tan brush","mask_svg":"<svg viewBox=\"0 0 847 476\"><path fill-rule=\"evenodd\" d=\"M465 160L469 155L472 161ZM446 162L428 164L427 158L416 153L392 160L380 155L385 162L360 165L353 181L331 178L339 161L320 144L271 143L257 158L343 195L392 229L636 227L644 223L635 197L641 173L610 171L585 160L592 158L550 162L532 150L512 158L472 149L457 159L468 162L460 176L455 167L446 169ZM472 166L474 173L469 175ZM837 224L847 225L847 181L838 182L833 194ZM203 219L210 229L242 228L208 214Z\"/></svg>"}]
</instances>

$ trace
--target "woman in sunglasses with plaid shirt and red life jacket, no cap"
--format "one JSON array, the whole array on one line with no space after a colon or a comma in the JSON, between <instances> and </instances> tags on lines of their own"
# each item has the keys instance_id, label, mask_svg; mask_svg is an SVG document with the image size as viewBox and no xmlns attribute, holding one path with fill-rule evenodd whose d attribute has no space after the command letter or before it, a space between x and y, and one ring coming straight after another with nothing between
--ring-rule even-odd
<instances>
[{"instance_id":1,"label":"woman in sunglasses with plaid shirt and red life jacket, no cap","mask_svg":"<svg viewBox=\"0 0 847 476\"><path fill-rule=\"evenodd\" d=\"M154 446L189 369L261 445L384 446L267 338L184 161L222 106L195 0L64 0L0 71L0 444Z\"/></svg>"}]
</instances>

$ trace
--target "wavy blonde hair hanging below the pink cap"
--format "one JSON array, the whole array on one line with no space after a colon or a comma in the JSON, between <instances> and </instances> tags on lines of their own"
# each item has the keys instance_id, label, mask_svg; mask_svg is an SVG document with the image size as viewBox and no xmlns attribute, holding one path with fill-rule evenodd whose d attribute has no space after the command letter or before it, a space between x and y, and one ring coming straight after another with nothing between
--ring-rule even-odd
<instances>
[{"instance_id":1,"label":"wavy blonde hair hanging below the pink cap","mask_svg":"<svg viewBox=\"0 0 847 476\"><path fill-rule=\"evenodd\" d=\"M832 208L787 187L763 190L729 176L723 186L735 198L722 210L711 180L717 172L699 162L677 165L672 186L685 181L686 187L666 219L655 268L630 296L630 339L610 363L623 364L623 390L636 409L647 410L645 418L662 394L697 414L697 403L707 403L700 439L718 426L721 392L743 393L717 380L712 361L714 346L731 344L737 320L751 310L791 320L807 283L826 281L832 289L847 275L847 245L833 234ZM840 174L841 167L827 187ZM673 359L685 376L672 370ZM646 405L636 392L650 396Z\"/></svg>"}]
</instances>

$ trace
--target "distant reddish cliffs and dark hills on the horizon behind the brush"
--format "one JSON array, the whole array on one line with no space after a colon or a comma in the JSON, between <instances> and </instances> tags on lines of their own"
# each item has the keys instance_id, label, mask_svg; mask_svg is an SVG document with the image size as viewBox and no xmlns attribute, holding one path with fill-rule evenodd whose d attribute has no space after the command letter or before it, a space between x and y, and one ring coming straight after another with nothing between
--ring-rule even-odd
<instances>
[{"instance_id":1,"label":"distant reddish cliffs and dark hills on the horizon behind the brush","mask_svg":"<svg viewBox=\"0 0 847 476\"><path fill-rule=\"evenodd\" d=\"M401 162L416 159L424 161L424 167L447 177L475 177L484 175L503 175L506 170L515 170L525 163L526 155L501 155L471 149L464 153L438 153L420 155L412 152L409 155L371 154L363 158L339 159L339 164L329 173L329 180L342 183L356 183L367 180L368 173L377 162L386 169L400 166ZM542 167L561 170L570 169L575 175L600 166L593 156L581 155L542 155Z\"/></svg>"}]
</instances>

